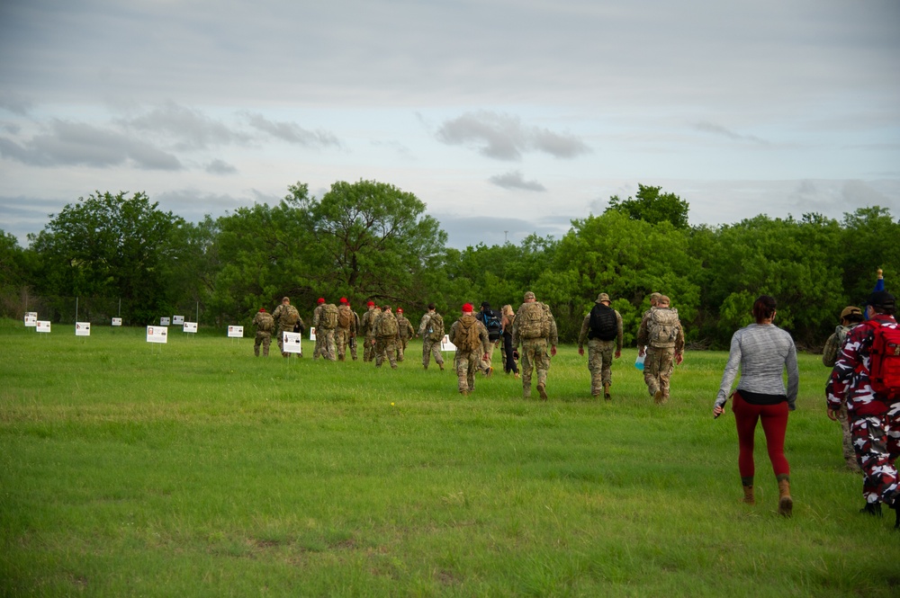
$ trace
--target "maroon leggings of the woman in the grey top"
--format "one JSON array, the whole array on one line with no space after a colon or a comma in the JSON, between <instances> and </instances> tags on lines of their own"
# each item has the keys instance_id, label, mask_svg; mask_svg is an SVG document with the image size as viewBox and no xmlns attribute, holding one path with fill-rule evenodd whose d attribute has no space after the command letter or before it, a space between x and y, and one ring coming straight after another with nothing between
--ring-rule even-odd
<instances>
[{"instance_id":1,"label":"maroon leggings of the woman in the grey top","mask_svg":"<svg viewBox=\"0 0 900 598\"><path fill-rule=\"evenodd\" d=\"M752 478L755 470L753 464L753 436L757 421L762 421L762 432L766 434L766 449L775 475L788 475L790 466L785 459L785 431L788 429L788 402L778 405L751 405L743 400L741 394L732 395L732 411L737 424L737 440L741 446L741 454L737 465L742 478Z\"/></svg>"}]
</instances>

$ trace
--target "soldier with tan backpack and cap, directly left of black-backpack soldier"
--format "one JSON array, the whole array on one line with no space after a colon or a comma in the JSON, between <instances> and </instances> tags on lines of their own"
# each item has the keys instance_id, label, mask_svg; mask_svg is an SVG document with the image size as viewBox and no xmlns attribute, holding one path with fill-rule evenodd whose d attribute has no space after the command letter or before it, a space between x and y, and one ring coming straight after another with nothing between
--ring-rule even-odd
<instances>
[{"instance_id":1,"label":"soldier with tan backpack and cap, directly left of black-backpack soldier","mask_svg":"<svg viewBox=\"0 0 900 598\"><path fill-rule=\"evenodd\" d=\"M512 346L518 349L522 360L522 393L525 398L531 397L531 374L537 370L537 392L541 400L547 400L547 370L550 369L550 357L556 354L559 338L556 333L556 320L550 308L535 299L530 290L525 293L525 301L516 312L512 325ZM547 353L547 345L550 353Z\"/></svg>"}]
</instances>

